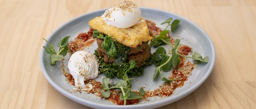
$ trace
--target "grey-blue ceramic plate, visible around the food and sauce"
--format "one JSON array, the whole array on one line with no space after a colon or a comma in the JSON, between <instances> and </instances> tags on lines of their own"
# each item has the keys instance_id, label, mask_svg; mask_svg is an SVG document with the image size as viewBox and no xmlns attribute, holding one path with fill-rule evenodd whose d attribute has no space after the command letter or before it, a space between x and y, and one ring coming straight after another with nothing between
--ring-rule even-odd
<instances>
[{"instance_id":1,"label":"grey-blue ceramic plate, visible around the food and sauce","mask_svg":"<svg viewBox=\"0 0 256 109\"><path fill-rule=\"evenodd\" d=\"M72 39L74 39L79 33L81 32L87 32L89 30L88 21L92 18L95 18L96 16L101 16L104 13L104 10L95 11L92 13L87 13L82 16L79 16L77 18L74 18L61 27L59 27L57 30L55 30L48 38L47 40L54 44L54 46L57 45L59 38L64 38L65 36L71 36ZM89 107L93 108L104 108L104 109L152 109L156 107L161 107L163 105L171 104L173 102L176 102L177 100L180 100L181 98L189 95L191 92L193 92L195 89L197 89L210 75L214 62L215 62L215 48L214 45L204 30L202 30L200 27L198 27L195 23L193 23L190 20L187 20L186 18L183 18L181 16L178 16L173 13L168 13L156 9L150 9L150 8L141 8L142 16L144 19L152 20L154 21L158 27L163 29L166 25L160 25L161 22L165 21L167 18L174 18L180 20L180 25L175 30L173 34L171 34L172 38L178 38L181 39L181 43L184 45L191 46L194 51L197 51L198 53L202 54L202 56L209 56L210 60L208 63L200 63L195 65L195 69L193 70L193 74L188 78L186 82L191 82L189 84L184 84L182 88L177 88L174 91L174 94L171 96L165 97L165 98L159 98L159 97L150 97L148 98L150 101L147 101L145 103L142 103L140 101L136 105L116 105L112 102L109 102L108 100L101 100L99 97L93 95L93 94L87 94L85 92L83 93L70 93L74 86L71 86L68 84L65 80L64 75L60 75L61 71L61 63L57 62L56 65L50 66L50 60L49 55L46 54L45 50L41 50L40 53L40 64L43 74L45 75L45 78L48 80L48 82L60 93L62 93L64 96L67 96L71 100L74 100L75 102L78 102L83 105L87 105ZM47 46L46 43L44 43L43 46ZM93 43L92 46L89 48L85 48L86 51L90 51L91 53L94 53L94 50L98 46L96 45L96 41ZM167 51L170 49L169 46L164 46ZM57 48L56 48L57 49ZM155 52L156 48L151 48L151 52ZM69 55L65 57L67 60ZM192 61L188 59L189 61ZM193 62L193 61L192 61ZM65 61L65 64L67 64L67 61ZM156 67L154 65L148 66L145 68L144 75L140 77L134 77L136 80L132 82L132 90L137 90L138 87L146 86L145 90L154 90L155 88L158 88L158 86L163 84L163 81L159 78L156 81L153 81L152 77L154 75L154 69ZM163 73L165 76L170 75L170 72ZM101 77L104 77L103 74L100 74ZM102 81L101 78L96 78L98 81ZM117 81L118 79L113 79L113 81ZM96 99L97 97L97 99Z\"/></svg>"}]
</instances>

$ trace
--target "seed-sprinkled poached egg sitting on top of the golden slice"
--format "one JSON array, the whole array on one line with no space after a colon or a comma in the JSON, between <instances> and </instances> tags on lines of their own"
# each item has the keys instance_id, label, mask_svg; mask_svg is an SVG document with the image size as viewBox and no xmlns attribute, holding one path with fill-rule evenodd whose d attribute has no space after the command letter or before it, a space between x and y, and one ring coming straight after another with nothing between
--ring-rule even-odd
<instances>
[{"instance_id":1,"label":"seed-sprinkled poached egg sitting on top of the golden slice","mask_svg":"<svg viewBox=\"0 0 256 109\"><path fill-rule=\"evenodd\" d=\"M130 28L136 25L141 19L141 10L138 5L130 1L124 1L121 4L105 11L101 18L108 24L120 29Z\"/></svg>"}]
</instances>

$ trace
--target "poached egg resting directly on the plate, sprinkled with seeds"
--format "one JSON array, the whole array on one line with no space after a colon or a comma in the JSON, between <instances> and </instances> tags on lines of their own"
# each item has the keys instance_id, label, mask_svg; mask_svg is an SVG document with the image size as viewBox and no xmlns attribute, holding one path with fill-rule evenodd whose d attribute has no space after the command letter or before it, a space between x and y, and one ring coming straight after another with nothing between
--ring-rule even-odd
<instances>
[{"instance_id":1,"label":"poached egg resting directly on the plate, sprinkled with seeds","mask_svg":"<svg viewBox=\"0 0 256 109\"><path fill-rule=\"evenodd\" d=\"M69 73L74 77L78 89L86 89L85 80L95 79L98 76L98 62L86 51L77 51L69 58Z\"/></svg>"}]
</instances>

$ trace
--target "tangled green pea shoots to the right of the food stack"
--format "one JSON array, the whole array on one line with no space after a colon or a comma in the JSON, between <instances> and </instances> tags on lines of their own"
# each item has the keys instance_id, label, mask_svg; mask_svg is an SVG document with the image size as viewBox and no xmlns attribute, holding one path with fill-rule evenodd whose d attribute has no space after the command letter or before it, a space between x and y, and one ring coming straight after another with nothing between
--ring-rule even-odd
<instances>
[{"instance_id":1,"label":"tangled green pea shoots to the right of the food stack","mask_svg":"<svg viewBox=\"0 0 256 109\"><path fill-rule=\"evenodd\" d=\"M173 20L173 18L169 18L166 21L164 21L163 23L161 23L161 25L163 25L163 24L168 24L168 25L167 25L167 27L165 27L165 29L163 31L160 32L160 34L158 36L153 38L152 41L150 42L150 45L153 45L154 47L158 47L163 44L167 44L172 47L171 56L166 54L166 51L163 47L158 47L156 52L154 52L152 54L154 63L156 64L156 66L158 66L154 71L153 80L158 79L159 75L161 75L161 80L163 80L163 81L172 82L173 80L176 80L176 79L169 79L167 77L164 77L163 74L161 73L161 71L168 72L168 71L171 71L171 68L175 69L178 66L178 64L180 63L180 56L191 58L191 59L195 60L197 63L200 63L200 62L208 63L208 61L209 61L208 56L202 58L202 56L200 54L198 54L197 52L194 52L192 57L189 57L186 55L181 55L178 53L178 49L181 46L180 39L176 39L175 44L173 45L173 44L169 43L170 39L166 36L166 34L169 33L169 30L166 30L169 26L171 26L171 32L174 32L174 30L178 27L178 25L180 23L179 20L174 20L171 23L172 20Z\"/></svg>"}]
</instances>

